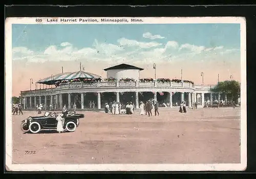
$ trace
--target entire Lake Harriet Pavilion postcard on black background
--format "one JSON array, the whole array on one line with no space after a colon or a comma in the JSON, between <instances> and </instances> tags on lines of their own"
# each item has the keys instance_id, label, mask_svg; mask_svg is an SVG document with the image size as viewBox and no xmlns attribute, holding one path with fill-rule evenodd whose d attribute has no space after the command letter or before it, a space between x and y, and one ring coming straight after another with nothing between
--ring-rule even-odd
<instances>
[{"instance_id":1,"label":"entire Lake Harriet Pavilion postcard on black background","mask_svg":"<svg viewBox=\"0 0 256 179\"><path fill-rule=\"evenodd\" d=\"M10 171L247 166L243 17L7 18Z\"/></svg>"}]
</instances>

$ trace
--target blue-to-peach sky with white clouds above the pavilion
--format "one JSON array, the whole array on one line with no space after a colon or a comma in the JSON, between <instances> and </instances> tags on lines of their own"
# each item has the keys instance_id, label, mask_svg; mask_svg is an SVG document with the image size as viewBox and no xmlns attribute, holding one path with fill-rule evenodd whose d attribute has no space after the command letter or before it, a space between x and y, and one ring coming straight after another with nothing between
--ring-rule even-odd
<instances>
[{"instance_id":1,"label":"blue-to-peach sky with white clouds above the pavilion","mask_svg":"<svg viewBox=\"0 0 256 179\"><path fill-rule=\"evenodd\" d=\"M12 94L63 72L106 77L120 63L144 70L141 78L181 78L204 84L240 81L240 24L12 25ZM32 89L35 88L33 83Z\"/></svg>"}]
</instances>

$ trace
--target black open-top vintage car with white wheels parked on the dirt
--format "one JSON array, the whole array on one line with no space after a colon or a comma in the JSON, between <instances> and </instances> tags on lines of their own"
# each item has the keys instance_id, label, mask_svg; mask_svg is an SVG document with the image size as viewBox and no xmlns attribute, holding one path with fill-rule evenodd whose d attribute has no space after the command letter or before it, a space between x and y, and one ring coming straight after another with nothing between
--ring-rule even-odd
<instances>
[{"instance_id":1,"label":"black open-top vintage car with white wheels parked on the dirt","mask_svg":"<svg viewBox=\"0 0 256 179\"><path fill-rule=\"evenodd\" d=\"M56 117L58 116L55 112L46 111L44 116L28 117L22 121L22 130L24 132L38 133L42 129L56 129L58 121ZM83 114L70 114L64 118L63 128L69 132L76 130L79 126L79 119L84 118Z\"/></svg>"}]
</instances>

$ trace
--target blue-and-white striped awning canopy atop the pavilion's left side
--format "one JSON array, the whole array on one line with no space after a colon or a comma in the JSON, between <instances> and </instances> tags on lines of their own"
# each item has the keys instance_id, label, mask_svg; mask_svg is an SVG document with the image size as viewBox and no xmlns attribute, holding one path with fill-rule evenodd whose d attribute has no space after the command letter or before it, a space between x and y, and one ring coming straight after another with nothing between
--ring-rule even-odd
<instances>
[{"instance_id":1,"label":"blue-and-white striped awning canopy atop the pavilion's left side","mask_svg":"<svg viewBox=\"0 0 256 179\"><path fill-rule=\"evenodd\" d=\"M76 78L94 78L98 79L100 76L95 75L93 73L88 73L88 72L73 72L73 73L60 73L57 75L53 75L44 79L41 79L37 81L36 83L41 83L41 84L55 84L56 81L58 80L72 80Z\"/></svg>"}]
</instances>

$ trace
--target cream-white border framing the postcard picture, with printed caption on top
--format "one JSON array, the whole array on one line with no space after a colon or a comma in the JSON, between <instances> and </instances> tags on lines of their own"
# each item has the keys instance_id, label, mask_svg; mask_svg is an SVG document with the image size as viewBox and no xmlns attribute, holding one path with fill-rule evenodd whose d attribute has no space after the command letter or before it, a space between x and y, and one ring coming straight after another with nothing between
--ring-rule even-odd
<instances>
[{"instance_id":1,"label":"cream-white border framing the postcard picture, with printed caption on top","mask_svg":"<svg viewBox=\"0 0 256 179\"><path fill-rule=\"evenodd\" d=\"M9 171L240 171L247 166L246 115L246 20L244 17L134 17L143 22L131 22L133 17L53 17L54 19L98 19L97 22L49 23L50 17L13 17L5 24L5 114L6 168ZM101 23L101 18L128 19L129 23ZM36 21L42 19L42 21ZM241 163L240 164L12 164L12 24L240 24L241 30Z\"/></svg>"}]
</instances>

